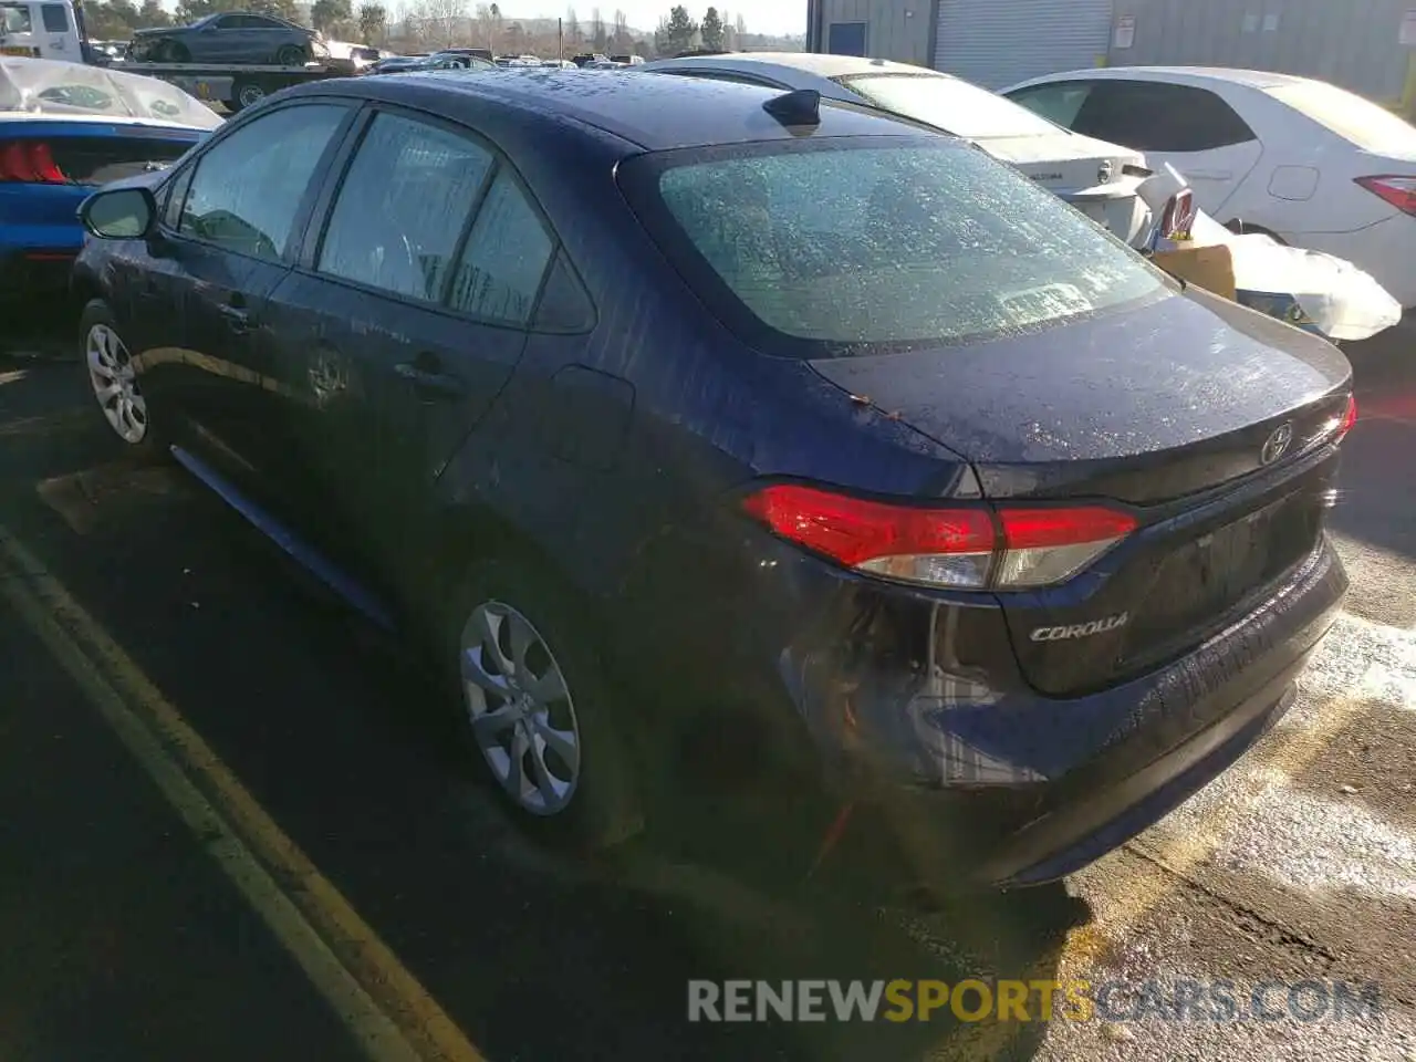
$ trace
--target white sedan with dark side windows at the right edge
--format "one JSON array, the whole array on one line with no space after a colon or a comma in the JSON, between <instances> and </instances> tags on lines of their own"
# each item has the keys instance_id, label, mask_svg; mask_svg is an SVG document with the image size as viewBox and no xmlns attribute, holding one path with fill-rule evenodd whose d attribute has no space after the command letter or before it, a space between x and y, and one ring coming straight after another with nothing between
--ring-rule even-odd
<instances>
[{"instance_id":1,"label":"white sedan with dark side windows at the right edge","mask_svg":"<svg viewBox=\"0 0 1416 1062\"><path fill-rule=\"evenodd\" d=\"M1344 258L1416 307L1416 127L1376 103L1308 78L1209 67L1070 71L1004 95L1170 163L1232 229Z\"/></svg>"}]
</instances>

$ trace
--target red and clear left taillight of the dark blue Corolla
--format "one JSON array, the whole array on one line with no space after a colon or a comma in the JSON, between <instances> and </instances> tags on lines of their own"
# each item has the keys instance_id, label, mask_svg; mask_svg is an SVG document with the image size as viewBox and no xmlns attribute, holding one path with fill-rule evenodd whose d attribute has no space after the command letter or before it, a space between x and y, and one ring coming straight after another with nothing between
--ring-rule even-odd
<instances>
[{"instance_id":1,"label":"red and clear left taillight of the dark blue Corolla","mask_svg":"<svg viewBox=\"0 0 1416 1062\"><path fill-rule=\"evenodd\" d=\"M748 496L743 510L773 532L869 575L964 589L1061 582L1136 528L1116 510L923 508L864 501L799 484Z\"/></svg>"}]
</instances>

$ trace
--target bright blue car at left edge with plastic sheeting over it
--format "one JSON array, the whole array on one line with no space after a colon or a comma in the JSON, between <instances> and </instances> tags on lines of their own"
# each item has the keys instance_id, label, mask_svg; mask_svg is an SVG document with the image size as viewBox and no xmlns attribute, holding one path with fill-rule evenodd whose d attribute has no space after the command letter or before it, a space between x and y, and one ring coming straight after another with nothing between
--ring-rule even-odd
<instances>
[{"instance_id":1,"label":"bright blue car at left edge with plastic sheeting over it","mask_svg":"<svg viewBox=\"0 0 1416 1062\"><path fill-rule=\"evenodd\" d=\"M153 78L0 59L0 312L68 290L96 185L166 169L221 122Z\"/></svg>"}]
</instances>

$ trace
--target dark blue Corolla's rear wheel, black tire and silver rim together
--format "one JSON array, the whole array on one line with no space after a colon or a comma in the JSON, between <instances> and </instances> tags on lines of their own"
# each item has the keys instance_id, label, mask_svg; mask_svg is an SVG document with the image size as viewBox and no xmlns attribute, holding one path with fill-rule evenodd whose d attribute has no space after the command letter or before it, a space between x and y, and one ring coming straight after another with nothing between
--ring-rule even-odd
<instances>
[{"instance_id":1,"label":"dark blue Corolla's rear wheel, black tire and silver rim together","mask_svg":"<svg viewBox=\"0 0 1416 1062\"><path fill-rule=\"evenodd\" d=\"M593 855L636 837L644 816L616 732L623 694L576 595L530 564L490 559L443 615L438 651L466 762L548 844Z\"/></svg>"}]
</instances>

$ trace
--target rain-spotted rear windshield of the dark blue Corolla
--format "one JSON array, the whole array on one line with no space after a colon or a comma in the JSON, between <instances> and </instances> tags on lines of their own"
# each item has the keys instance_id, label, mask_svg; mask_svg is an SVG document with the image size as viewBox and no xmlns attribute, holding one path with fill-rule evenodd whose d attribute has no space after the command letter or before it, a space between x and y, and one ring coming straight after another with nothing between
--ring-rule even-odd
<instances>
[{"instance_id":1,"label":"rain-spotted rear windshield of the dark blue Corolla","mask_svg":"<svg viewBox=\"0 0 1416 1062\"><path fill-rule=\"evenodd\" d=\"M657 174L657 214L695 252L690 282L691 263L707 265L695 286L731 293L755 338L765 327L806 341L806 355L867 353L1038 327L1172 290L978 149L937 137L769 147L690 153ZM647 214L653 227L656 210Z\"/></svg>"}]
</instances>

